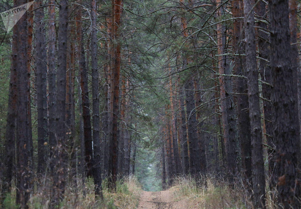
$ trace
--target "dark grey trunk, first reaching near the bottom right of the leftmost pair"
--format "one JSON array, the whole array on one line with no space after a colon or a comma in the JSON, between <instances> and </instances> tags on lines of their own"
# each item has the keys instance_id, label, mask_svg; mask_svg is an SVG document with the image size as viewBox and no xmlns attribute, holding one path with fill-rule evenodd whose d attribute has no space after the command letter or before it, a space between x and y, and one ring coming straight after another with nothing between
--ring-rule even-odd
<instances>
[{"instance_id":1,"label":"dark grey trunk, first reaching near the bottom right of the leftmost pair","mask_svg":"<svg viewBox=\"0 0 301 209\"><path fill-rule=\"evenodd\" d=\"M67 69L67 31L68 31L68 1L61 0L59 3L59 28L58 34L58 52L57 52L57 92L56 92L56 147L54 154L55 177L54 189L55 205L63 199L67 177L67 138L66 138L66 69Z\"/></svg>"}]
</instances>

